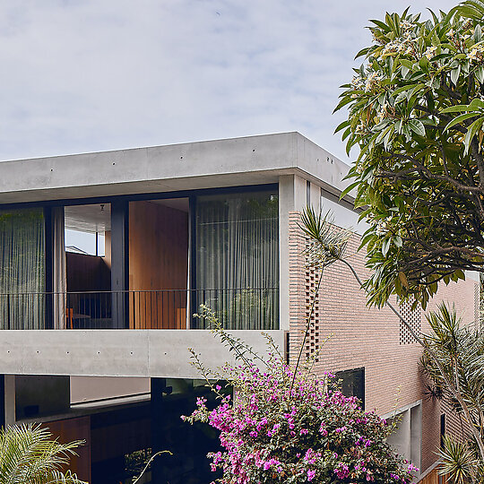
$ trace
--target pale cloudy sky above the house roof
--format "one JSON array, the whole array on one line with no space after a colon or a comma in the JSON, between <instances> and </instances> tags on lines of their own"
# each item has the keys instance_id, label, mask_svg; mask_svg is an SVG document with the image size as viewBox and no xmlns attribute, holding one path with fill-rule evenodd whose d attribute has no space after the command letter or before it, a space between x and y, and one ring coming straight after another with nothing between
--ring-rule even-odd
<instances>
[{"instance_id":1,"label":"pale cloudy sky above the house roof","mask_svg":"<svg viewBox=\"0 0 484 484\"><path fill-rule=\"evenodd\" d=\"M341 160L338 86L385 10L449 0L0 0L0 160L298 131Z\"/></svg>"}]
</instances>

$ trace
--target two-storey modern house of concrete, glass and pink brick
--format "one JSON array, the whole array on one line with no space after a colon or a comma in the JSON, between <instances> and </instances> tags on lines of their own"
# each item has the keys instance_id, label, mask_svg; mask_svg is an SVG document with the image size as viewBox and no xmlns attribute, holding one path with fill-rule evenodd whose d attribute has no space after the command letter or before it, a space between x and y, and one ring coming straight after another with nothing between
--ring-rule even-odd
<instances>
[{"instance_id":1,"label":"two-storey modern house of concrete, glass and pink brick","mask_svg":"<svg viewBox=\"0 0 484 484\"><path fill-rule=\"evenodd\" d=\"M298 133L2 162L3 423L84 439L73 469L93 484L129 482L160 449L173 456L156 461L152 482L208 481L214 436L179 419L206 393L187 349L206 367L231 355L193 315L206 304L255 350L264 330L294 360L317 278L301 255L307 204L353 227L365 275L364 223L350 195L339 200L347 170ZM468 279L439 297L471 324L476 287ZM419 311L402 311L425 331ZM411 335L368 308L339 264L324 272L313 319L305 353L316 370L337 372L367 410L400 414L393 445L431 471L454 419L425 398Z\"/></svg>"}]
</instances>

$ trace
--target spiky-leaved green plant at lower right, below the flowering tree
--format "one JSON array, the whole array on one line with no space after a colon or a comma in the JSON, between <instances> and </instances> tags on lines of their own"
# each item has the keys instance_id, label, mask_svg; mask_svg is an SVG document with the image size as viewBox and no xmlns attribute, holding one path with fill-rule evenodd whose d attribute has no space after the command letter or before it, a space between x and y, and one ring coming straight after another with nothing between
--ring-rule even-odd
<instances>
[{"instance_id":1,"label":"spiky-leaved green plant at lower right, below the flowering tree","mask_svg":"<svg viewBox=\"0 0 484 484\"><path fill-rule=\"evenodd\" d=\"M484 336L468 327L462 327L454 307L441 305L437 312L430 313L427 318L432 332L423 337L428 349L421 358L421 366L433 382L431 393L439 395L439 398L454 408L466 424L465 427L462 425L463 443L445 436L440 451L442 471L450 474L455 483L467 480L482 482ZM429 350L432 350L432 355ZM437 360L440 367L436 365ZM460 396L459 399L455 392Z\"/></svg>"}]
</instances>

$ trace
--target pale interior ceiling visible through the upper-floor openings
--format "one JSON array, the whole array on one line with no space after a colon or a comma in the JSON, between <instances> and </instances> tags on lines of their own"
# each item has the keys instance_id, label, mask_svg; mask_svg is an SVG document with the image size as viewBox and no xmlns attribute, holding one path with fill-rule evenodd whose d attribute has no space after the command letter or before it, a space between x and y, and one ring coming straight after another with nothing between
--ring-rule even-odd
<instances>
[{"instance_id":1,"label":"pale interior ceiling visible through the upper-floor openings","mask_svg":"<svg viewBox=\"0 0 484 484\"><path fill-rule=\"evenodd\" d=\"M167 207L188 212L187 198L168 200L150 200ZM134 202L135 203L135 202ZM111 229L111 204L96 203L91 205L70 205L65 207L65 229L81 232L106 232Z\"/></svg>"}]
</instances>

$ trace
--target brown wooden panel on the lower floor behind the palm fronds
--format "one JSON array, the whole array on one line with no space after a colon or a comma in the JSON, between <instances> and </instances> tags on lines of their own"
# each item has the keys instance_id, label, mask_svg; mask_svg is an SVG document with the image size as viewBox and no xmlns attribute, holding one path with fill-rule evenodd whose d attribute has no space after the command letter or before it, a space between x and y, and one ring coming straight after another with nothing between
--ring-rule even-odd
<instances>
[{"instance_id":1,"label":"brown wooden panel on the lower floor behind the palm fronds","mask_svg":"<svg viewBox=\"0 0 484 484\"><path fill-rule=\"evenodd\" d=\"M85 444L76 449L71 457L69 469L77 474L81 480L91 482L91 418L90 416L74 419L54 420L44 424L54 438L62 444L73 440L84 440Z\"/></svg>"}]
</instances>

